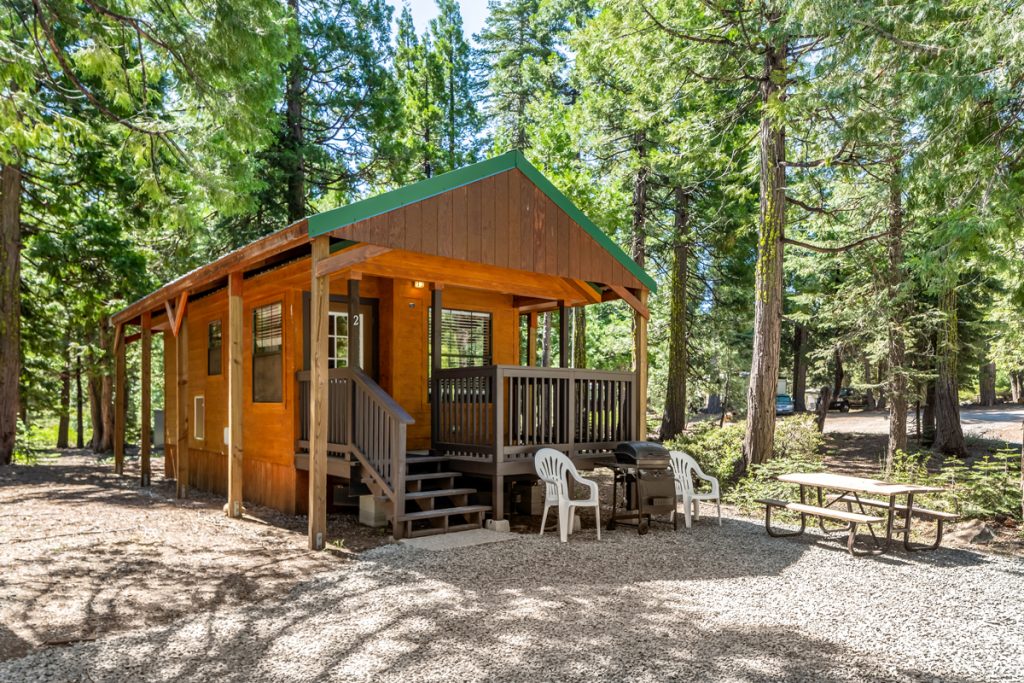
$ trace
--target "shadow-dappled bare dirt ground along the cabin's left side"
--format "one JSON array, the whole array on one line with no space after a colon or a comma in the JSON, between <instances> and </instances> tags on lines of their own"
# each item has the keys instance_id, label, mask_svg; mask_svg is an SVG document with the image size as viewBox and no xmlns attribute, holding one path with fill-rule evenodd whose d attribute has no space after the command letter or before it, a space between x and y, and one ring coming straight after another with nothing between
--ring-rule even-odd
<instances>
[{"instance_id":1,"label":"shadow-dappled bare dirt ground along the cabin's left side","mask_svg":"<svg viewBox=\"0 0 1024 683\"><path fill-rule=\"evenodd\" d=\"M0 660L259 601L348 561L308 552L304 517L250 508L229 520L222 498L175 501L159 476L141 489L132 466L119 477L71 451L0 467ZM387 541L349 516L329 527L354 551Z\"/></svg>"}]
</instances>

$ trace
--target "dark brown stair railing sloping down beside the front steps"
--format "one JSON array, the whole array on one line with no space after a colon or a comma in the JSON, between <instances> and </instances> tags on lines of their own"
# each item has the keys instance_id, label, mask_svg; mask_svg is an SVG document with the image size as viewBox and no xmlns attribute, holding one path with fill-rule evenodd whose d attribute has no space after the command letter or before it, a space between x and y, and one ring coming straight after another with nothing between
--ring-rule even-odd
<instances>
[{"instance_id":1,"label":"dark brown stair railing sloping down beside the front steps","mask_svg":"<svg viewBox=\"0 0 1024 683\"><path fill-rule=\"evenodd\" d=\"M299 450L309 450L308 371L299 383ZM328 371L327 426L329 453L350 455L367 470L382 493L404 510L407 428L415 420L358 368Z\"/></svg>"}]
</instances>

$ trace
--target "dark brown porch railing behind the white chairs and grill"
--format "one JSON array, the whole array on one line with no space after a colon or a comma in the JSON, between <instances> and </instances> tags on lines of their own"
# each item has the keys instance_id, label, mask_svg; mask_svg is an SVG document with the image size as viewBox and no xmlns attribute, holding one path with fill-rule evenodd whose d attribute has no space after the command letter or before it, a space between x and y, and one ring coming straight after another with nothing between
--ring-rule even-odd
<instances>
[{"instance_id":1,"label":"dark brown porch railing behind the white chairs and grill","mask_svg":"<svg viewBox=\"0 0 1024 683\"><path fill-rule=\"evenodd\" d=\"M607 453L636 428L636 376L626 372L488 366L434 378L435 451L480 462Z\"/></svg>"}]
</instances>

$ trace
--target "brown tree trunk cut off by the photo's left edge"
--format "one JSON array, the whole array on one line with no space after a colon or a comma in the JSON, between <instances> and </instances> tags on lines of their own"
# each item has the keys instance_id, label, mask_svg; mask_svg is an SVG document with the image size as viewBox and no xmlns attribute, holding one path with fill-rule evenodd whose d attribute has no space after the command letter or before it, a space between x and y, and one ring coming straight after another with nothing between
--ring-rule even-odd
<instances>
[{"instance_id":1,"label":"brown tree trunk cut off by the photo's left edge","mask_svg":"<svg viewBox=\"0 0 1024 683\"><path fill-rule=\"evenodd\" d=\"M0 169L0 464L14 457L22 372L22 169Z\"/></svg>"}]
</instances>

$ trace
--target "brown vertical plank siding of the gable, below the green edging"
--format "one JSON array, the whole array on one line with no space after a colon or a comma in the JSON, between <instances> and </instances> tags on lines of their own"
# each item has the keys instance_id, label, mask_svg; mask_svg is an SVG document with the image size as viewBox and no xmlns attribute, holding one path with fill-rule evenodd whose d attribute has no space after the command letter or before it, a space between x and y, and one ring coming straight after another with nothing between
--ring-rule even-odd
<instances>
[{"instance_id":1,"label":"brown vertical plank siding of the gable, below the green edging","mask_svg":"<svg viewBox=\"0 0 1024 683\"><path fill-rule=\"evenodd\" d=\"M518 169L334 230L442 258L639 289L640 281Z\"/></svg>"}]
</instances>

